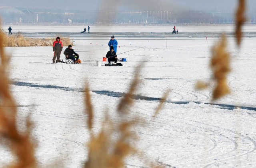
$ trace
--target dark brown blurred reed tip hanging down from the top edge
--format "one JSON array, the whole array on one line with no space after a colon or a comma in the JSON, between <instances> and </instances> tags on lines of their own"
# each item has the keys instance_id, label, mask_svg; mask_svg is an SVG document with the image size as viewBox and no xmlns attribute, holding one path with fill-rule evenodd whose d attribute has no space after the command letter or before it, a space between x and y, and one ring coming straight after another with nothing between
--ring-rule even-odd
<instances>
[{"instance_id":1,"label":"dark brown blurred reed tip hanging down from the top edge","mask_svg":"<svg viewBox=\"0 0 256 168\"><path fill-rule=\"evenodd\" d=\"M238 8L236 10L236 42L238 46L240 46L242 39L242 25L246 22L246 1L238 0L238 3Z\"/></svg>"}]
</instances>

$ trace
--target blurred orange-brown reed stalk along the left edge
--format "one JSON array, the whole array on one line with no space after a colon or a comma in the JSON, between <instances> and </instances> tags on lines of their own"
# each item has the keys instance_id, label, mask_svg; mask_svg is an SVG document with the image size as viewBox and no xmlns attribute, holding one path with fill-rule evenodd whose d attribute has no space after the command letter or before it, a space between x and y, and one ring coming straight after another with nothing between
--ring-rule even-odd
<instances>
[{"instance_id":1,"label":"blurred orange-brown reed stalk along the left edge","mask_svg":"<svg viewBox=\"0 0 256 168\"><path fill-rule=\"evenodd\" d=\"M16 103L10 93L9 74L7 72L8 56L4 52L4 36L0 34L0 136L8 142L16 162L10 168L34 168L36 159L34 157L34 144L30 140L31 123L26 120L27 130L23 134L18 132L16 125Z\"/></svg>"}]
</instances>

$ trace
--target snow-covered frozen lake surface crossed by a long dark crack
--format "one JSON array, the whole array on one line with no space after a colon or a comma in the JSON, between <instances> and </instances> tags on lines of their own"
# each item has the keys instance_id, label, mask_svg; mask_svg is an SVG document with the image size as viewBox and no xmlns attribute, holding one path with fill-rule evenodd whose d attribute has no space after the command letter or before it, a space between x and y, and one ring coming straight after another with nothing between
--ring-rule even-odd
<instances>
[{"instance_id":1,"label":"snow-covered frozen lake surface crossed by a long dark crack","mask_svg":"<svg viewBox=\"0 0 256 168\"><path fill-rule=\"evenodd\" d=\"M139 150L150 161L166 168L254 168L255 28L245 27L248 36L244 36L239 49L232 26L188 26L178 28L182 31L176 35L166 34L172 29L166 26L119 26L111 27L111 31L108 27L92 26L92 34L82 35L77 33L82 31L79 26L63 31L61 26L20 26L19 30L30 37L54 37L56 32L70 36L82 64L51 64L52 47L6 48L12 52L10 73L14 82L12 92L19 104L18 123L23 125L32 110L40 165L62 160L67 168L80 168L87 157L89 140L82 92L85 82L89 82L92 90L94 131L98 132L107 107L111 117L116 118L116 104L134 78L134 68L144 62L131 113L148 122L134 131L139 135ZM198 80L210 80L210 47L218 41L222 30L229 32L232 72L228 75L228 86L232 93L212 102L212 88L198 91L194 86ZM123 67L98 67L96 60L106 55L112 34L120 46L118 53L133 51L118 56L128 60ZM151 120L168 88L171 93L164 109ZM9 159L10 153L0 146L0 163ZM130 156L126 166L142 167L144 162Z\"/></svg>"}]
</instances>

